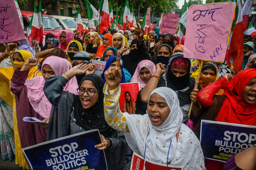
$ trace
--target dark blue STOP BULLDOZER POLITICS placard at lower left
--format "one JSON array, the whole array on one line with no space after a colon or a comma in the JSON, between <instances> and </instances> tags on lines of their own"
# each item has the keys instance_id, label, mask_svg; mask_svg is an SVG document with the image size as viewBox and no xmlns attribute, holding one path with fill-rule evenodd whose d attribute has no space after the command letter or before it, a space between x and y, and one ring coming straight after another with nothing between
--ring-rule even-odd
<instances>
[{"instance_id":1,"label":"dark blue STOP BULLDOZER POLITICS placard at lower left","mask_svg":"<svg viewBox=\"0 0 256 170\"><path fill-rule=\"evenodd\" d=\"M107 169L98 129L61 137L27 148L23 153L32 170L103 170Z\"/></svg>"}]
</instances>

